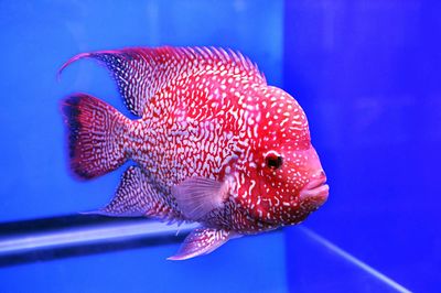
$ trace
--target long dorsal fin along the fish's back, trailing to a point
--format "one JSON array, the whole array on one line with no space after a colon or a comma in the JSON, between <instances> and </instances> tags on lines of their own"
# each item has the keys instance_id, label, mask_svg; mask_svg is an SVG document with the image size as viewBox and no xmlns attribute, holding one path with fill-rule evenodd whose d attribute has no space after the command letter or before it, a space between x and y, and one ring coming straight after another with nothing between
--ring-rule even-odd
<instances>
[{"instance_id":1,"label":"long dorsal fin along the fish's back, trailing to a point","mask_svg":"<svg viewBox=\"0 0 441 293\"><path fill-rule=\"evenodd\" d=\"M82 58L95 58L112 73L126 106L142 117L146 102L171 80L183 74L226 72L266 84L263 75L239 52L215 47L135 47L82 53L67 61L58 72Z\"/></svg>"}]
</instances>

